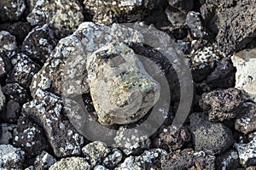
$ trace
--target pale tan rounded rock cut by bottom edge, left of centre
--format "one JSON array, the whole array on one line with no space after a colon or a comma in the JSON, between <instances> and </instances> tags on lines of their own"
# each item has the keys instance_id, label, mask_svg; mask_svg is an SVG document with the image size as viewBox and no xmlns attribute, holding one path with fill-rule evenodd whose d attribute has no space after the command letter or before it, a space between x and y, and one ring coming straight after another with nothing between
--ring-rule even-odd
<instances>
[{"instance_id":1,"label":"pale tan rounded rock cut by bottom edge, left of centre","mask_svg":"<svg viewBox=\"0 0 256 170\"><path fill-rule=\"evenodd\" d=\"M49 170L90 170L90 164L83 157L67 157L55 162Z\"/></svg>"}]
</instances>

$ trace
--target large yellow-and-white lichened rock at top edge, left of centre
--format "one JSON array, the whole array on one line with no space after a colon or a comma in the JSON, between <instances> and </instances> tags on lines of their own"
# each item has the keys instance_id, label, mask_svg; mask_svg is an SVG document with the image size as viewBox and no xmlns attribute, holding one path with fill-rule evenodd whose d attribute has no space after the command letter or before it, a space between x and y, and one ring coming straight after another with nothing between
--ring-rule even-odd
<instances>
[{"instance_id":1,"label":"large yellow-and-white lichened rock at top edge, left of centre","mask_svg":"<svg viewBox=\"0 0 256 170\"><path fill-rule=\"evenodd\" d=\"M61 36L67 36L84 21L82 10L77 0L38 0L32 5L32 11L26 20L32 26L49 24L60 31Z\"/></svg>"}]
</instances>

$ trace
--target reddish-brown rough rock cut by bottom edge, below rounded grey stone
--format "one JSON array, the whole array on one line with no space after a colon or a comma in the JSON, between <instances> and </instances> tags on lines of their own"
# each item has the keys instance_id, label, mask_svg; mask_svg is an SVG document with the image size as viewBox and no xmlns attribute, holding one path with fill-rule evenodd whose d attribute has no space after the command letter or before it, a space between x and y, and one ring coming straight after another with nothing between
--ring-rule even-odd
<instances>
[{"instance_id":1,"label":"reddish-brown rough rock cut by bottom edge, below rounded grey stone","mask_svg":"<svg viewBox=\"0 0 256 170\"><path fill-rule=\"evenodd\" d=\"M203 151L177 150L161 158L161 169L215 169L215 157Z\"/></svg>"}]
</instances>

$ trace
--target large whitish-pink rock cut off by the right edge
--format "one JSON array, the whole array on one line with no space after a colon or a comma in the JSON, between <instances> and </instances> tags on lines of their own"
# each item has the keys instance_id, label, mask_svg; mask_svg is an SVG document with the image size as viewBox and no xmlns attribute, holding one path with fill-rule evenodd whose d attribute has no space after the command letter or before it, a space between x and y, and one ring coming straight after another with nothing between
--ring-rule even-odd
<instances>
[{"instance_id":1,"label":"large whitish-pink rock cut off by the right edge","mask_svg":"<svg viewBox=\"0 0 256 170\"><path fill-rule=\"evenodd\" d=\"M231 59L236 67L236 88L243 89L256 101L256 48L242 50Z\"/></svg>"}]
</instances>

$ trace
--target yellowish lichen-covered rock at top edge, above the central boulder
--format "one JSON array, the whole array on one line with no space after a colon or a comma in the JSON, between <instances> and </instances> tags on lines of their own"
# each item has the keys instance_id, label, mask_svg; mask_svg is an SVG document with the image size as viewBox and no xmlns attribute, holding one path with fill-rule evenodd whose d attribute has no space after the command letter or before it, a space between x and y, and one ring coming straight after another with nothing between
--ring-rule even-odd
<instances>
[{"instance_id":1,"label":"yellowish lichen-covered rock at top edge, above the central boulder","mask_svg":"<svg viewBox=\"0 0 256 170\"><path fill-rule=\"evenodd\" d=\"M84 8L93 15L92 20L106 25L121 20L121 18L127 18L128 20L140 19L141 14L137 12L132 17L131 13L142 5L143 0L84 0Z\"/></svg>"}]
</instances>

